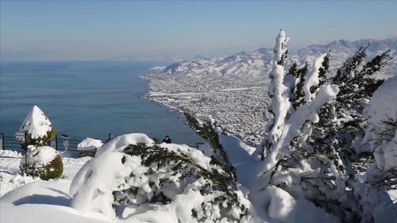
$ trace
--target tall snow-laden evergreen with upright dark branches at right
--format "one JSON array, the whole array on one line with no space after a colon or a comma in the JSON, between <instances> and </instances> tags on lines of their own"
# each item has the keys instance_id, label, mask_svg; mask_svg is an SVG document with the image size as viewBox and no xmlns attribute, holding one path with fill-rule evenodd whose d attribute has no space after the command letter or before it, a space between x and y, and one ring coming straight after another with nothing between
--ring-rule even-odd
<instances>
[{"instance_id":1,"label":"tall snow-laden evergreen with upright dark branches at right","mask_svg":"<svg viewBox=\"0 0 397 223\"><path fill-rule=\"evenodd\" d=\"M276 42L275 48L279 48L278 44ZM346 168L350 156L342 151L352 147L354 137L364 127L364 122L358 122L358 118L362 118L360 103L368 101L381 84L369 76L384 67L389 59L386 51L362 65L366 49L367 46L347 59L334 76L328 74L328 50L315 59L311 72L306 72L307 66L298 69L293 64L283 81L269 87L287 86L279 98L289 98L295 110L291 110L289 103L272 98L272 108L277 108L281 115L274 116L274 126L264 139L263 146L271 152L264 157L257 190L268 193L267 185L274 185L342 221L359 219L354 190L347 190L350 185ZM271 76L281 70L284 71L274 67ZM277 137L274 137L274 127L280 132Z\"/></svg>"}]
</instances>

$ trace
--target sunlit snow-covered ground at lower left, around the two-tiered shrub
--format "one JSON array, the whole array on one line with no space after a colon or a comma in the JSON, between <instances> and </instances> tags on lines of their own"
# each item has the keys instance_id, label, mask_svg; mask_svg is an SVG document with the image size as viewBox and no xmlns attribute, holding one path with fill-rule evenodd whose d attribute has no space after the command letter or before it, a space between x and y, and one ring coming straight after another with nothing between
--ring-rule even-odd
<instances>
[{"instance_id":1,"label":"sunlit snow-covered ground at lower left, around the two-tiered shrub","mask_svg":"<svg viewBox=\"0 0 397 223\"><path fill-rule=\"evenodd\" d=\"M23 157L16 151L0 151L0 222L111 222L99 213L79 215L69 207L70 183L91 157L63 156L63 176L53 181L24 175L19 170Z\"/></svg>"}]
</instances>

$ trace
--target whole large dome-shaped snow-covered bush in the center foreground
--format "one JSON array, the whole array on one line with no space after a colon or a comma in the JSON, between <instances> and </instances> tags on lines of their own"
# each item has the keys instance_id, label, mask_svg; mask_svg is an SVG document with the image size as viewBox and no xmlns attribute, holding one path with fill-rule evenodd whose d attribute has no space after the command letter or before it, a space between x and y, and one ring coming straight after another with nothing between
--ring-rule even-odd
<instances>
[{"instance_id":1,"label":"whole large dome-shaped snow-covered bush in the center foreground","mask_svg":"<svg viewBox=\"0 0 397 223\"><path fill-rule=\"evenodd\" d=\"M116 205L124 207L124 218L141 221L156 219L157 213L162 222L248 219L247 189L218 161L214 164L213 158L185 145L147 139L123 135L99 149L72 181L72 207L113 218Z\"/></svg>"}]
</instances>

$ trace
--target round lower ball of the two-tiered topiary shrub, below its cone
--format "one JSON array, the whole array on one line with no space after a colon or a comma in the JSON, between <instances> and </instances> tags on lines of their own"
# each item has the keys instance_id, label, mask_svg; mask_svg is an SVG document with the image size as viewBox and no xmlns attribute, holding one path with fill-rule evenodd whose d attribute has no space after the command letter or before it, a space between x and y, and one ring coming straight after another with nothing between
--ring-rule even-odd
<instances>
[{"instance_id":1,"label":"round lower ball of the two-tiered topiary shrub, below its cone","mask_svg":"<svg viewBox=\"0 0 397 223\"><path fill-rule=\"evenodd\" d=\"M23 173L38 176L42 180L59 178L63 173L62 159L58 151L52 147L28 146L28 151L21 159L19 166Z\"/></svg>"}]
</instances>

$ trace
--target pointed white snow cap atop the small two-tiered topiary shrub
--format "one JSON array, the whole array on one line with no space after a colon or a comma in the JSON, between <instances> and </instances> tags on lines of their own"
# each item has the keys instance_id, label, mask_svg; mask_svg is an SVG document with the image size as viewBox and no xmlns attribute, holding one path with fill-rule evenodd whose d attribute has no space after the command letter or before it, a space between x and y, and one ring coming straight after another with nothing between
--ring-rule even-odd
<instances>
[{"instance_id":1,"label":"pointed white snow cap atop the small two-tiered topiary shrub","mask_svg":"<svg viewBox=\"0 0 397 223\"><path fill-rule=\"evenodd\" d=\"M32 139L43 137L51 130L51 122L38 106L34 105L21 125L19 132L28 132Z\"/></svg>"}]
</instances>

